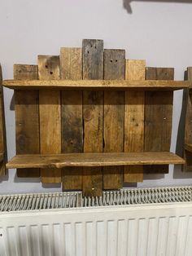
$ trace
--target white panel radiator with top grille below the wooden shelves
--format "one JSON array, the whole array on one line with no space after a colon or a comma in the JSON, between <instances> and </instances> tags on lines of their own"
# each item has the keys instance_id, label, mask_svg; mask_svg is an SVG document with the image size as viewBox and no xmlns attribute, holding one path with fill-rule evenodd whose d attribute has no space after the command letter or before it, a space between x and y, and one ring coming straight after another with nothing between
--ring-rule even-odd
<instances>
[{"instance_id":1,"label":"white panel radiator with top grille below the wooden shelves","mask_svg":"<svg viewBox=\"0 0 192 256\"><path fill-rule=\"evenodd\" d=\"M0 196L0 255L191 256L191 201L192 187Z\"/></svg>"}]
</instances>

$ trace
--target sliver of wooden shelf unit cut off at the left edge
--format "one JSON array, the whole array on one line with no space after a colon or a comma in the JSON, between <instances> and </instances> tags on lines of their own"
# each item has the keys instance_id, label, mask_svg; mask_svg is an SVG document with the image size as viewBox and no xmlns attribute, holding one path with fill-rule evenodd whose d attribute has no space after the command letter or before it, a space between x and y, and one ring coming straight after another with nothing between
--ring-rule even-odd
<instances>
[{"instance_id":1,"label":"sliver of wooden shelf unit cut off at the left edge","mask_svg":"<svg viewBox=\"0 0 192 256\"><path fill-rule=\"evenodd\" d=\"M0 176L6 175L7 139L4 112L4 99L2 89L2 66L0 64Z\"/></svg>"}]
</instances>

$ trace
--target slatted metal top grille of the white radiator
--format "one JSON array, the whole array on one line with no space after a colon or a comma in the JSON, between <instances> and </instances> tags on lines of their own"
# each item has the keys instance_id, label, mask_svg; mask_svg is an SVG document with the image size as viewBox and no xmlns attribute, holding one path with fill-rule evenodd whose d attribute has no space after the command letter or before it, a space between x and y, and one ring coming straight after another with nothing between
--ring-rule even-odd
<instances>
[{"instance_id":1,"label":"slatted metal top grille of the white radiator","mask_svg":"<svg viewBox=\"0 0 192 256\"><path fill-rule=\"evenodd\" d=\"M107 205L141 205L192 201L192 187L142 188L106 191L103 196L55 192L0 196L0 211L66 209Z\"/></svg>"}]
</instances>

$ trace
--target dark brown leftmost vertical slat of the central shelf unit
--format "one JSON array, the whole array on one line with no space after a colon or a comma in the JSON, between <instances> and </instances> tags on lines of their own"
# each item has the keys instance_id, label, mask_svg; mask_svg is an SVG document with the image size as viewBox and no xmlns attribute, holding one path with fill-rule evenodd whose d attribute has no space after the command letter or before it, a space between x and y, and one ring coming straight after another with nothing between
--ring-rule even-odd
<instances>
[{"instance_id":1,"label":"dark brown leftmost vertical slat of the central shelf unit","mask_svg":"<svg viewBox=\"0 0 192 256\"><path fill-rule=\"evenodd\" d=\"M14 65L15 80L38 79L37 65ZM16 154L38 154L38 90L15 90ZM18 177L39 177L39 169L18 169Z\"/></svg>"}]
</instances>

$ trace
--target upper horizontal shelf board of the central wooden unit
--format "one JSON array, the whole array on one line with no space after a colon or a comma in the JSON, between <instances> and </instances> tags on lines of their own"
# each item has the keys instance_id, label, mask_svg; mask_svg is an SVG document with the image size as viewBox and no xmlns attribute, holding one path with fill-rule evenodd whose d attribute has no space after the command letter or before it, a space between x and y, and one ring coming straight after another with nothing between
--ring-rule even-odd
<instances>
[{"instance_id":1,"label":"upper horizontal shelf board of the central wooden unit","mask_svg":"<svg viewBox=\"0 0 192 256\"><path fill-rule=\"evenodd\" d=\"M166 80L4 80L2 85L15 90L181 90L189 82Z\"/></svg>"}]
</instances>

